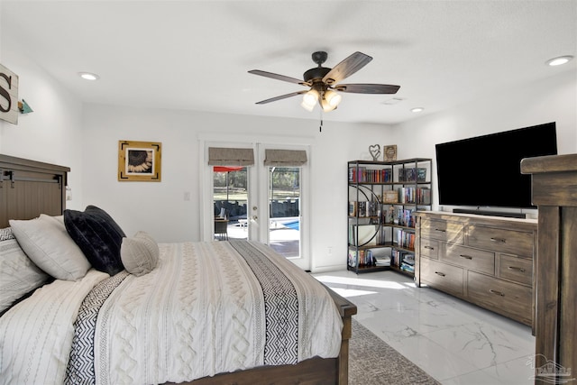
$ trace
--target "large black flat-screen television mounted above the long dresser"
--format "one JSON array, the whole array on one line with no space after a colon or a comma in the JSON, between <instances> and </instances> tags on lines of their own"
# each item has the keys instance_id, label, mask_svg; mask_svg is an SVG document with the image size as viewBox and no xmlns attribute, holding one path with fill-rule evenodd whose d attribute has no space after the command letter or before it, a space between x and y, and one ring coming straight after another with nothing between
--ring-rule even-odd
<instances>
[{"instance_id":1,"label":"large black flat-screen television mounted above the long dresser","mask_svg":"<svg viewBox=\"0 0 577 385\"><path fill-rule=\"evenodd\" d=\"M557 153L555 123L435 145L439 205L535 208L524 158Z\"/></svg>"}]
</instances>

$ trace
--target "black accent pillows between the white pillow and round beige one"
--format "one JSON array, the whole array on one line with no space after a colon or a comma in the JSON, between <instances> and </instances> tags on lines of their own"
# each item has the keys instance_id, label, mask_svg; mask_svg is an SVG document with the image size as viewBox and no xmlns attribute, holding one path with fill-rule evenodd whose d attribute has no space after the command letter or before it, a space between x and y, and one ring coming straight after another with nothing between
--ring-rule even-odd
<instances>
[{"instance_id":1,"label":"black accent pillows between the white pillow and round beige one","mask_svg":"<svg viewBox=\"0 0 577 385\"><path fill-rule=\"evenodd\" d=\"M64 210L64 225L96 270L110 275L124 270L120 247L126 235L105 210L96 206Z\"/></svg>"}]
</instances>

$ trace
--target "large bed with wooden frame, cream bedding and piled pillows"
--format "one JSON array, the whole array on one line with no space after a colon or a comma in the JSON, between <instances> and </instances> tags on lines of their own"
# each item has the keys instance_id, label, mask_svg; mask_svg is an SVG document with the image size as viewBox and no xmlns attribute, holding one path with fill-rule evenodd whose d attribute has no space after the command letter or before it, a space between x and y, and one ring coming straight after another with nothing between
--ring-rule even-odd
<instances>
[{"instance_id":1,"label":"large bed with wooden frame, cream bedding and piled pillows","mask_svg":"<svg viewBox=\"0 0 577 385\"><path fill-rule=\"evenodd\" d=\"M0 383L347 383L352 303L261 243L139 232L108 247L98 237L118 241L121 226L100 207L65 209L68 171L0 155L0 247L17 243L40 282L0 316ZM88 266L78 251L65 272L37 260L34 237L41 258L60 263L72 242ZM122 266L93 259L119 250Z\"/></svg>"}]
</instances>

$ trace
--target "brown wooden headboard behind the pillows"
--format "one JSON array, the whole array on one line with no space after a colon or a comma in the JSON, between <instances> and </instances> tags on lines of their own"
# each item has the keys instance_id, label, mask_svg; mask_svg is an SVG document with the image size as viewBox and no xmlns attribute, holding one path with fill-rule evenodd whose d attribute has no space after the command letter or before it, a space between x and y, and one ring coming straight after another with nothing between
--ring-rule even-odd
<instances>
[{"instance_id":1,"label":"brown wooden headboard behind the pillows","mask_svg":"<svg viewBox=\"0 0 577 385\"><path fill-rule=\"evenodd\" d=\"M61 215L69 167L0 154L0 228L9 219Z\"/></svg>"}]
</instances>

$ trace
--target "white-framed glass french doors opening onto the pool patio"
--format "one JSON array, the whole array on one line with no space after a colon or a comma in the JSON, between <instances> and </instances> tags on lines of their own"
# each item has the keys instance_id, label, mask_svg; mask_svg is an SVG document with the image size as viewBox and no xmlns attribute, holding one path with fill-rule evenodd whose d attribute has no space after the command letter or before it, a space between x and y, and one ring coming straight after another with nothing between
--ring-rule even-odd
<instances>
[{"instance_id":1,"label":"white-framed glass french doors opening onto the pool patio","mask_svg":"<svg viewBox=\"0 0 577 385\"><path fill-rule=\"evenodd\" d=\"M207 142L206 147L210 146L226 147L226 143ZM309 270L307 164L265 165L265 152L279 149L279 145L251 146L252 165L206 166L205 239L223 239L215 234L215 221L225 219L229 239L266 243L299 268ZM308 151L307 146L283 150Z\"/></svg>"}]
</instances>

